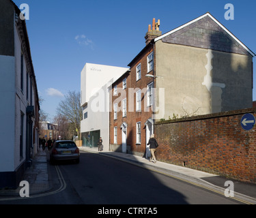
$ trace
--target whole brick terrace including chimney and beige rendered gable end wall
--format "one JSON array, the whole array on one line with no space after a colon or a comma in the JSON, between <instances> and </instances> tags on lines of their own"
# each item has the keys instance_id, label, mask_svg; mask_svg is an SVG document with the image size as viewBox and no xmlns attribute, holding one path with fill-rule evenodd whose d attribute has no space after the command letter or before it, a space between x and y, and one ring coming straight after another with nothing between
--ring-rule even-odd
<instances>
[{"instance_id":1,"label":"whole brick terrace including chimney and beige rendered gable end wall","mask_svg":"<svg viewBox=\"0 0 256 218\"><path fill-rule=\"evenodd\" d=\"M252 106L255 54L218 20L206 13L163 35L159 26L153 19L130 72L111 86L111 151L148 157L156 120Z\"/></svg>"}]
</instances>

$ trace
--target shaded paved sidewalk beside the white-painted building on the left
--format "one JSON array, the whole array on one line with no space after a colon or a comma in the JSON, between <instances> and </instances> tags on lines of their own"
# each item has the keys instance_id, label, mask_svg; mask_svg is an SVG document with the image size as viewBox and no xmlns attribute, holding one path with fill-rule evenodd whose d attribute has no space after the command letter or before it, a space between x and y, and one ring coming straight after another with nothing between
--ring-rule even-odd
<instances>
[{"instance_id":1,"label":"shaded paved sidewalk beside the white-painted building on the left","mask_svg":"<svg viewBox=\"0 0 256 218\"><path fill-rule=\"evenodd\" d=\"M32 166L27 168L23 175L23 181L29 182L29 195L42 193L51 189L48 180L48 166L46 151L40 151L33 158ZM20 196L20 188L17 189L0 189L0 198L3 196Z\"/></svg>"}]
</instances>

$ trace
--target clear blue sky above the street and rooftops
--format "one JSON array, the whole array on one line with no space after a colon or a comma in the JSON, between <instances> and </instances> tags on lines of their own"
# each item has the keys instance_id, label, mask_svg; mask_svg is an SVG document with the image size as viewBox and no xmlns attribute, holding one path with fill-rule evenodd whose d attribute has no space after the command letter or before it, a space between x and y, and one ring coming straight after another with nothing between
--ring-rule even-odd
<instances>
[{"instance_id":1,"label":"clear blue sky above the street and rooftops","mask_svg":"<svg viewBox=\"0 0 256 218\"><path fill-rule=\"evenodd\" d=\"M33 67L38 93L44 99L41 109L50 121L63 95L80 92L85 63L127 67L144 48L145 33L153 18L160 19L160 31L167 33L210 12L256 53L256 1L13 1L18 7L22 3L29 5L26 23ZM234 6L234 20L225 20L227 3Z\"/></svg>"}]
</instances>

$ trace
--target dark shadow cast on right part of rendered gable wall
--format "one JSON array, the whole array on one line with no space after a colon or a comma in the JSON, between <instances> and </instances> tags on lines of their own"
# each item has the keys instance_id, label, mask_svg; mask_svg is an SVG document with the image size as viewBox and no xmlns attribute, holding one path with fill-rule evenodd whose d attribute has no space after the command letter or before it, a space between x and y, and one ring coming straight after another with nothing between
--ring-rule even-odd
<instances>
[{"instance_id":1,"label":"dark shadow cast on right part of rendered gable wall","mask_svg":"<svg viewBox=\"0 0 256 218\"><path fill-rule=\"evenodd\" d=\"M210 92L212 113L251 108L251 55L222 29L210 35L209 48L202 84Z\"/></svg>"}]
</instances>

